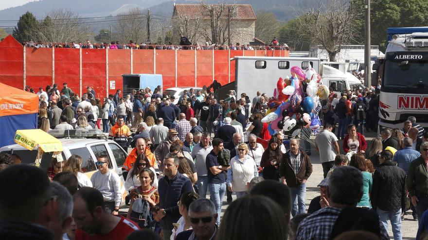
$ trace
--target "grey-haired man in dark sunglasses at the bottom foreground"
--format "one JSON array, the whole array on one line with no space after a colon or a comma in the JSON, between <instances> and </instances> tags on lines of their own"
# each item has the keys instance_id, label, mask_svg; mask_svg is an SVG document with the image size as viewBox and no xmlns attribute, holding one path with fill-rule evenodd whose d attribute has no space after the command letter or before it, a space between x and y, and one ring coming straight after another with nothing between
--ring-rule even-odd
<instances>
[{"instance_id":1,"label":"grey-haired man in dark sunglasses at the bottom foreground","mask_svg":"<svg viewBox=\"0 0 428 240\"><path fill-rule=\"evenodd\" d=\"M190 225L192 229L181 232L176 240L213 240L217 232L215 221L218 215L214 203L206 198L199 198L189 206Z\"/></svg>"}]
</instances>

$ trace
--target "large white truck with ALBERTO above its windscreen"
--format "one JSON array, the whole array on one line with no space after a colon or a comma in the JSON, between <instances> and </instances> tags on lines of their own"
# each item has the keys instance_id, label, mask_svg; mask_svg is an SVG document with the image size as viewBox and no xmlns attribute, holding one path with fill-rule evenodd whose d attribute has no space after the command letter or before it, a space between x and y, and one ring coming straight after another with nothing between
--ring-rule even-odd
<instances>
[{"instance_id":1,"label":"large white truck with ALBERTO above its windscreen","mask_svg":"<svg viewBox=\"0 0 428 240\"><path fill-rule=\"evenodd\" d=\"M389 28L390 41L372 85L381 77L378 133L402 128L409 116L428 128L428 27Z\"/></svg>"}]
</instances>

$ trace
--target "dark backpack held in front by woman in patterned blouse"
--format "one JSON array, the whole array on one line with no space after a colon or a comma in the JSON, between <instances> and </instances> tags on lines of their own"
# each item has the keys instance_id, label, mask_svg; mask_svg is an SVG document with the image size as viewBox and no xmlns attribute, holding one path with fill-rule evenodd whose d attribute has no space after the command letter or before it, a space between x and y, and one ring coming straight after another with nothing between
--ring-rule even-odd
<instances>
[{"instance_id":1,"label":"dark backpack held in front by woman in patterned blouse","mask_svg":"<svg viewBox=\"0 0 428 240\"><path fill-rule=\"evenodd\" d=\"M138 197L132 205L130 219L137 223L140 228L154 228L156 221L150 211L150 204L143 198L138 188L136 188L135 191L137 192ZM155 192L156 190L150 192L149 197L151 197Z\"/></svg>"}]
</instances>

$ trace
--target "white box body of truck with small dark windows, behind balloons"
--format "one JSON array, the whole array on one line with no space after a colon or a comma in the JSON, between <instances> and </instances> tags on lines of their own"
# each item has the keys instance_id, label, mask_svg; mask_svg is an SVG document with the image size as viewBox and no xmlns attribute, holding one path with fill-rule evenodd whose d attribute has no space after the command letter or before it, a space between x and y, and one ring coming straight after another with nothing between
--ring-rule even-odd
<instances>
[{"instance_id":1,"label":"white box body of truck with small dark windows, behind balloons","mask_svg":"<svg viewBox=\"0 0 428 240\"><path fill-rule=\"evenodd\" d=\"M310 65L317 73L320 70L318 58L239 56L231 61L235 61L235 81L217 91L220 99L226 98L229 90L234 90L237 96L246 93L250 99L256 96L257 91L273 96L278 79L291 77L292 66L299 66L304 71Z\"/></svg>"}]
</instances>

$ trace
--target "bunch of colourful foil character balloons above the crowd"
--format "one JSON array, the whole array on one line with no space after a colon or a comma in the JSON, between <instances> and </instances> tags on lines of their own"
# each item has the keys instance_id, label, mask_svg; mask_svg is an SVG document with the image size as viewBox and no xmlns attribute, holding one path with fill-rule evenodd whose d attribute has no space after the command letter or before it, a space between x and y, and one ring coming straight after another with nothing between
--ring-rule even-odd
<instances>
[{"instance_id":1,"label":"bunch of colourful foil character balloons above the crowd","mask_svg":"<svg viewBox=\"0 0 428 240\"><path fill-rule=\"evenodd\" d=\"M285 134L296 137L302 128L317 134L321 126L320 98L327 99L329 90L321 85L321 76L311 66L305 72L293 66L290 72L292 77L277 81L275 99L269 102L269 111L262 122L269 123L267 129L271 135L282 129Z\"/></svg>"}]
</instances>

